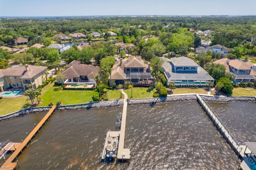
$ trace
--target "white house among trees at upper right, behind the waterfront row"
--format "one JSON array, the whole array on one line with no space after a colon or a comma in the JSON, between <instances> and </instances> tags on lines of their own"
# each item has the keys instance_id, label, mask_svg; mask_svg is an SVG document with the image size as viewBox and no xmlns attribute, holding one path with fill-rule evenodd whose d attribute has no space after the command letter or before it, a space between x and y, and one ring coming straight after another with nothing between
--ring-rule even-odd
<instances>
[{"instance_id":1,"label":"white house among trees at upper right, behind the waterfront row","mask_svg":"<svg viewBox=\"0 0 256 170\"><path fill-rule=\"evenodd\" d=\"M209 46L209 47L197 47L196 48L196 53L201 53L201 52L213 52L213 53L218 53L218 54L221 54L223 56L226 56L228 55L228 53L230 52L230 48L227 48L225 46L222 46L222 45L213 45L213 46Z\"/></svg>"}]
</instances>

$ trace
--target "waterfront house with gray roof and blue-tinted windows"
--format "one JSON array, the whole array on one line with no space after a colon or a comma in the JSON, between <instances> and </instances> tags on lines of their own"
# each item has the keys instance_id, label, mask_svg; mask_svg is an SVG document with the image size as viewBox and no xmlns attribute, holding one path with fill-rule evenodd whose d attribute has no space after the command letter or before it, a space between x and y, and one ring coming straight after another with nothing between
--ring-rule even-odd
<instances>
[{"instance_id":1,"label":"waterfront house with gray roof and blue-tinted windows","mask_svg":"<svg viewBox=\"0 0 256 170\"><path fill-rule=\"evenodd\" d=\"M207 71L185 56L163 60L167 84L173 82L175 86L206 86L207 81L214 83L214 79Z\"/></svg>"}]
</instances>

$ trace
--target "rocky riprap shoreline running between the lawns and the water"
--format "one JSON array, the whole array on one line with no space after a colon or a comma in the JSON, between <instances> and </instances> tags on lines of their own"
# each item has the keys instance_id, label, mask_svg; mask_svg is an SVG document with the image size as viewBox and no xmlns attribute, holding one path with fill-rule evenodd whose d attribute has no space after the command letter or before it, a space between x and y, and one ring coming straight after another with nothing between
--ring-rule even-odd
<instances>
[{"instance_id":1,"label":"rocky riprap shoreline running between the lawns and the water","mask_svg":"<svg viewBox=\"0 0 256 170\"><path fill-rule=\"evenodd\" d=\"M225 96L213 96L200 94L201 98L207 102L256 102L256 97L251 96L242 96L242 97L225 97ZM171 95L166 98L145 98L145 99L128 99L128 105L133 104L151 104L154 106L156 103L165 103L165 102L177 102L177 101L197 101L196 94L180 94L180 95ZM82 110L82 109L92 109L92 108L107 108L107 107L117 107L123 106L123 99L121 100L109 100L109 101L99 101L99 102L89 102L81 104L69 104L63 106L57 106L57 111L65 110ZM26 114L33 114L36 112L47 112L51 107L36 107L22 109L11 114L0 116L0 121L5 119L10 119L18 116L23 116Z\"/></svg>"}]
</instances>

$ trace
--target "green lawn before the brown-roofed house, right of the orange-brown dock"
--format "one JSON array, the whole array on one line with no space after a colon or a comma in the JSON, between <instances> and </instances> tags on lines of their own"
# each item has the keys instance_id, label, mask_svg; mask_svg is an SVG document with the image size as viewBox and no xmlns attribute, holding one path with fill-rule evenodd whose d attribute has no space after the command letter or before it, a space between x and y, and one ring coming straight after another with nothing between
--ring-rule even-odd
<instances>
[{"instance_id":1,"label":"green lawn before the brown-roofed house, right of the orange-brown dock","mask_svg":"<svg viewBox=\"0 0 256 170\"><path fill-rule=\"evenodd\" d=\"M87 103L92 101L92 93L93 91L62 90L59 86L49 84L42 90L42 103L39 106L48 106L50 102L56 104L58 100L62 104Z\"/></svg>"}]
</instances>

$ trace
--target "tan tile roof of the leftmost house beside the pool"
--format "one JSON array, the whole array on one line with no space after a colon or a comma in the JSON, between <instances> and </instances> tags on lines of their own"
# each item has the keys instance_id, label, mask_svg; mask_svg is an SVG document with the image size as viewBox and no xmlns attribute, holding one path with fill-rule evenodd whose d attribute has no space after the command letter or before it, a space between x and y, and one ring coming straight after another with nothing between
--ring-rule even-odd
<instances>
[{"instance_id":1,"label":"tan tile roof of the leftmost house beside the pool","mask_svg":"<svg viewBox=\"0 0 256 170\"><path fill-rule=\"evenodd\" d=\"M13 66L0 70L4 76L20 76L20 78L33 78L42 71L46 71L47 67L28 65L28 70L25 66Z\"/></svg>"}]
</instances>

